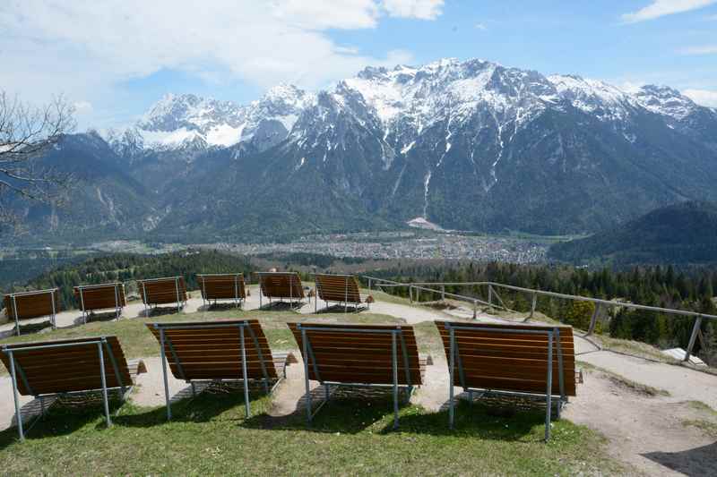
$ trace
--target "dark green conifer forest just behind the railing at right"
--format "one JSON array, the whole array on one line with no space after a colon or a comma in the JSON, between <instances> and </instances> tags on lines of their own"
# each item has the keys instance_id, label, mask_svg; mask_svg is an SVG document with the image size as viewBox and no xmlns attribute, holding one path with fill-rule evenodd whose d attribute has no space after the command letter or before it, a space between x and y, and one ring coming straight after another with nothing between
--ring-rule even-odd
<instances>
[{"instance_id":1,"label":"dark green conifer forest just behind the railing at right","mask_svg":"<svg viewBox=\"0 0 717 477\"><path fill-rule=\"evenodd\" d=\"M488 264L443 264L426 266L411 264L377 270L376 277L401 282L480 282L492 281L507 285L621 300L704 313L717 314L713 302L717 270L713 268L635 267L626 271L609 268L589 270L571 266L522 266L492 262ZM407 295L408 290L396 288L392 293ZM478 286L446 286L445 291L487 299L486 288ZM481 294L482 293L482 294ZM531 297L527 294L498 292L505 304L516 311L529 311ZM435 300L436 296L424 299ZM586 329L592 317L591 302L573 302L540 296L537 310L567 324ZM601 317L599 332L610 336L635 339L662 348L686 347L694 319L651 311L618 309ZM704 320L704 347L697 344L702 355L717 358L717 324ZM705 356L708 357L708 356Z\"/></svg>"}]
</instances>

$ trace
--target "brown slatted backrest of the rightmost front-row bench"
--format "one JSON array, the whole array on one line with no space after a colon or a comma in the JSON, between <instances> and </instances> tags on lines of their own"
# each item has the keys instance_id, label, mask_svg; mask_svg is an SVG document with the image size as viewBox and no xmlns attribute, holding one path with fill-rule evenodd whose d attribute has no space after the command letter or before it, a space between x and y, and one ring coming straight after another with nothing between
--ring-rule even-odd
<instances>
[{"instance_id":1,"label":"brown slatted backrest of the rightmost front-row bench","mask_svg":"<svg viewBox=\"0 0 717 477\"><path fill-rule=\"evenodd\" d=\"M563 382L566 396L575 396L575 354L573 328L518 324L436 321L450 363L450 328L454 328L457 353L454 386L499 391L546 394L548 372L547 334L560 332ZM458 327L458 328L456 328ZM553 343L552 390L560 394L557 339Z\"/></svg>"}]
</instances>

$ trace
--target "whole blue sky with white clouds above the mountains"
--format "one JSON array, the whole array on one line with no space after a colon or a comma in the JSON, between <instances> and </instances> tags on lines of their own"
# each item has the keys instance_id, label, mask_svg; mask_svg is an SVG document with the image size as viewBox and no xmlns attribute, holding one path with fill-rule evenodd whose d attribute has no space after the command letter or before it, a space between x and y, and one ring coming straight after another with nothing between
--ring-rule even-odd
<instances>
[{"instance_id":1,"label":"whole blue sky with white clouds above the mountains","mask_svg":"<svg viewBox=\"0 0 717 477\"><path fill-rule=\"evenodd\" d=\"M168 92L240 103L367 64L479 57L717 107L717 0L5 0L0 88L64 94L80 129L134 122Z\"/></svg>"}]
</instances>

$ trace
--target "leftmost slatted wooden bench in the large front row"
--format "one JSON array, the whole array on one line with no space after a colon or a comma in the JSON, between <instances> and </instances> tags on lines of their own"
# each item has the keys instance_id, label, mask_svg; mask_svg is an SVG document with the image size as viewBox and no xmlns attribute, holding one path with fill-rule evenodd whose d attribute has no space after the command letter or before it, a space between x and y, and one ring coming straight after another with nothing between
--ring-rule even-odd
<instances>
[{"instance_id":1,"label":"leftmost slatted wooden bench in the large front row","mask_svg":"<svg viewBox=\"0 0 717 477\"><path fill-rule=\"evenodd\" d=\"M108 391L119 389L124 399L133 386L133 373L117 336L18 343L3 345L0 360L10 371L20 439L24 439L20 398L39 398L42 413L45 399L53 396L101 391L107 425ZM145 372L143 362L134 366L135 374Z\"/></svg>"}]
</instances>

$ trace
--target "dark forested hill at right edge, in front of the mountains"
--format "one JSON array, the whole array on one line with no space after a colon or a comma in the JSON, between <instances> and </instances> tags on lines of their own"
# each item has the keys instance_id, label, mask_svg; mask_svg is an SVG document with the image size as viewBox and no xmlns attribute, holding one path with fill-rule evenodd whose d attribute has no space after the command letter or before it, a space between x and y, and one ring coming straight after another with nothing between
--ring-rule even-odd
<instances>
[{"instance_id":1,"label":"dark forested hill at right edge, in front of the mountains","mask_svg":"<svg viewBox=\"0 0 717 477\"><path fill-rule=\"evenodd\" d=\"M717 204L690 201L656 209L609 231L556 243L549 257L620 263L717 262Z\"/></svg>"}]
</instances>

